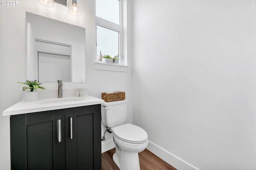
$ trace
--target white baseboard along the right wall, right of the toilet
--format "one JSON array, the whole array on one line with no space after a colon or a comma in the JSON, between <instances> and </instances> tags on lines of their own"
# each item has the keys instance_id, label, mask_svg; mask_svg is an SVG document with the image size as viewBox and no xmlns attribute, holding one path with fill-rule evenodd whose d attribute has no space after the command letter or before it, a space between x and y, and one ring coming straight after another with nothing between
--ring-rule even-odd
<instances>
[{"instance_id":1,"label":"white baseboard along the right wall, right of the toilet","mask_svg":"<svg viewBox=\"0 0 256 170\"><path fill-rule=\"evenodd\" d=\"M178 170L198 170L198 168L195 168L194 166L188 164L184 160L181 160L177 156L174 156L170 152L158 147L150 141L148 143L147 149Z\"/></svg>"}]
</instances>

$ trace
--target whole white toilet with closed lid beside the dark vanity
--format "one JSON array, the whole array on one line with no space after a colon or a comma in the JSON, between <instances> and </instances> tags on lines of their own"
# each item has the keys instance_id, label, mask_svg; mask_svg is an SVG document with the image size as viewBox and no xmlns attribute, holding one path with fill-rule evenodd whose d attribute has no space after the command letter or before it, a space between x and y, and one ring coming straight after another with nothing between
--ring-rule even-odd
<instances>
[{"instance_id":1,"label":"whole white toilet with closed lid beside the dark vanity","mask_svg":"<svg viewBox=\"0 0 256 170\"><path fill-rule=\"evenodd\" d=\"M148 134L144 129L125 123L127 100L101 104L102 123L113 133L116 153L113 160L120 170L140 170L138 153L148 146Z\"/></svg>"}]
</instances>

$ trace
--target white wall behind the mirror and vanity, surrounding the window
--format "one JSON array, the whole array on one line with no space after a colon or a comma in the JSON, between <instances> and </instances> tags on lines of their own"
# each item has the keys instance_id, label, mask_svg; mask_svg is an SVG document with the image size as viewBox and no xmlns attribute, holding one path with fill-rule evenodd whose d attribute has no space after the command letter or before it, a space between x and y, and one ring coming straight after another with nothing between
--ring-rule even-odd
<instances>
[{"instance_id":1,"label":"white wall behind the mirror and vanity, surrounding the window","mask_svg":"<svg viewBox=\"0 0 256 170\"><path fill-rule=\"evenodd\" d=\"M128 72L95 70L96 26L94 0L78 1L82 9L82 14L79 17L68 14L67 8L60 4L55 4L53 8L47 8L36 0L23 0L18 1L18 3L18 6L0 6L0 113L21 100L23 86L16 82L26 80L25 16L27 11L86 28L86 82L66 83L63 88L85 87L90 90L89 94L91 96L98 98L101 98L101 92L125 91L128 99L127 121L132 123L131 30L127 30L129 42L127 44ZM131 25L130 23L128 24ZM48 89L58 88L57 83L42 84L42 86ZM104 131L104 126L102 126L102 131ZM0 169L9 170L9 117L0 115L0 135Z\"/></svg>"}]
</instances>

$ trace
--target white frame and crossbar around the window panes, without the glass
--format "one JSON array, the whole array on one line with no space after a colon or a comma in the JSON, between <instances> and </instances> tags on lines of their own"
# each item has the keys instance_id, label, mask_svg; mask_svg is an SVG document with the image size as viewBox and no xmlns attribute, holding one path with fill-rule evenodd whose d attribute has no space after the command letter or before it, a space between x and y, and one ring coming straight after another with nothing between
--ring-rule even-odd
<instances>
[{"instance_id":1,"label":"white frame and crossbar around the window panes, without the glass","mask_svg":"<svg viewBox=\"0 0 256 170\"><path fill-rule=\"evenodd\" d=\"M96 45L97 45L97 36L98 36L97 25L118 32L119 33L119 40L118 40L119 41L118 42L119 64L118 65L124 66L124 63L127 63L127 62L124 62L124 56L123 56L123 43L122 43L123 42L123 2L122 1L123 0L119 0L119 24L100 18L96 16L96 14L95 16L96 16ZM97 61L97 46L96 46L95 58L96 58L95 59L96 63L102 63Z\"/></svg>"}]
</instances>

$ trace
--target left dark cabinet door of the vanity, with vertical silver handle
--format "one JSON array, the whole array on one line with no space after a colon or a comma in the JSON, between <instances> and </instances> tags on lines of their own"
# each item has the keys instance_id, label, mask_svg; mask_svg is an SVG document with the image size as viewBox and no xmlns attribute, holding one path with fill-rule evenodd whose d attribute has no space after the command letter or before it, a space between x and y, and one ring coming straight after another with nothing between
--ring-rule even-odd
<instances>
[{"instance_id":1,"label":"left dark cabinet door of the vanity, with vertical silver handle","mask_svg":"<svg viewBox=\"0 0 256 170\"><path fill-rule=\"evenodd\" d=\"M64 109L11 116L11 169L64 170L64 117Z\"/></svg>"}]
</instances>

